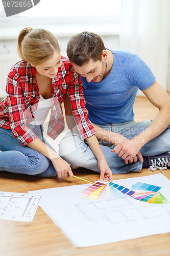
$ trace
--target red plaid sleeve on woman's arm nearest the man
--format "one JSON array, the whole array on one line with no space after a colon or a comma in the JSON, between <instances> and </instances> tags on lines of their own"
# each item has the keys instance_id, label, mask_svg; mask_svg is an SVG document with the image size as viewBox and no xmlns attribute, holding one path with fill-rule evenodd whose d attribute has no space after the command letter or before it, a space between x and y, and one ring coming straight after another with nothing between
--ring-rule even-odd
<instances>
[{"instance_id":1,"label":"red plaid sleeve on woman's arm nearest the man","mask_svg":"<svg viewBox=\"0 0 170 256\"><path fill-rule=\"evenodd\" d=\"M81 139L86 139L95 134L94 127L88 119L88 111L85 108L85 100L83 95L83 84L80 75L78 75L74 67L70 68L71 79L68 86L68 93L71 102L72 114L78 125Z\"/></svg>"}]
</instances>

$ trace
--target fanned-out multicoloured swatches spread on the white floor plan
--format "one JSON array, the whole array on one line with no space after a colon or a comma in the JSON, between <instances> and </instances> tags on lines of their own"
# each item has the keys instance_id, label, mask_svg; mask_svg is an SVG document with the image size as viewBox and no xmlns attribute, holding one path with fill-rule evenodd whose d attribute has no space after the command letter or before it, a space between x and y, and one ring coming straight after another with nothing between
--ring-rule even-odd
<instances>
[{"instance_id":1,"label":"fanned-out multicoloured swatches spread on the white floor plan","mask_svg":"<svg viewBox=\"0 0 170 256\"><path fill-rule=\"evenodd\" d=\"M91 200L133 197L136 200L148 203L169 203L169 201L158 190L161 187L137 182L131 189L116 183L96 182L83 190L78 196Z\"/></svg>"}]
</instances>

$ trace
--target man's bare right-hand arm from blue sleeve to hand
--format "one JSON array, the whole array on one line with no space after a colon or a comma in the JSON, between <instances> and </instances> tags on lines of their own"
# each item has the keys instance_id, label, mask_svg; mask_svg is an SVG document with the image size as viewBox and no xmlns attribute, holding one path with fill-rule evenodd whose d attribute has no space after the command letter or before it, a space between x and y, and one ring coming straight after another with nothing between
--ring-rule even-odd
<instances>
[{"instance_id":1,"label":"man's bare right-hand arm from blue sleeve to hand","mask_svg":"<svg viewBox=\"0 0 170 256\"><path fill-rule=\"evenodd\" d=\"M112 152L115 152L124 160L128 160L136 155L144 144L161 134L170 124L170 97L167 92L157 81L142 92L159 109L159 113L147 129L132 140L120 143L114 147Z\"/></svg>"}]
</instances>

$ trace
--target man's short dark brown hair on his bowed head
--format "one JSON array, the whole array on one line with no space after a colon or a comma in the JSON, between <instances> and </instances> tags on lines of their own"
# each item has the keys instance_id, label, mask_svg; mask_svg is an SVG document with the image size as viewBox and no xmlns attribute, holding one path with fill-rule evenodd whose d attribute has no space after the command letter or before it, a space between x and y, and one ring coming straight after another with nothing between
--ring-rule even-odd
<instances>
[{"instance_id":1,"label":"man's short dark brown hair on his bowed head","mask_svg":"<svg viewBox=\"0 0 170 256\"><path fill-rule=\"evenodd\" d=\"M92 32L82 32L72 36L67 44L67 56L71 63L78 66L94 61L102 60L102 51L105 50L102 38Z\"/></svg>"}]
</instances>

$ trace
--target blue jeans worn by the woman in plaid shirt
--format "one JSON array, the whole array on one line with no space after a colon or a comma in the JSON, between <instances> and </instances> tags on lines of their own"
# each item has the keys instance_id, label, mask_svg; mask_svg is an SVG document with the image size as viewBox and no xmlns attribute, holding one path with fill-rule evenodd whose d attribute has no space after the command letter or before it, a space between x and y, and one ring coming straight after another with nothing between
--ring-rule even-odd
<instances>
[{"instance_id":1,"label":"blue jeans worn by the woman in plaid shirt","mask_svg":"<svg viewBox=\"0 0 170 256\"><path fill-rule=\"evenodd\" d=\"M43 138L41 125L29 125L30 129L50 148L52 146ZM54 150L54 148L52 148ZM28 174L40 177L53 177L57 172L47 157L29 146L22 146L11 130L0 127L0 171Z\"/></svg>"}]
</instances>

